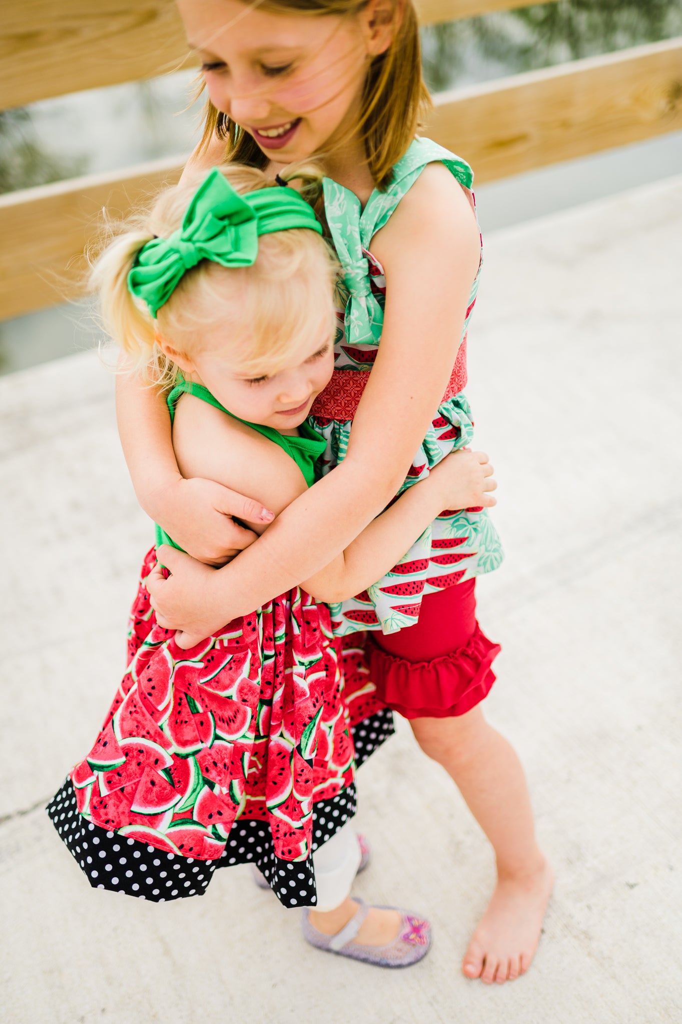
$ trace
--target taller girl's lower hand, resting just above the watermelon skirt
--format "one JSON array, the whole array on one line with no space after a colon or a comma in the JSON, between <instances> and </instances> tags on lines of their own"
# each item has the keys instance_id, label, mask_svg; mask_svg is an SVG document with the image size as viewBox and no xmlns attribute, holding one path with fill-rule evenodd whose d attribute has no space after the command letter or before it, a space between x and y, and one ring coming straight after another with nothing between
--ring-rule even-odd
<instances>
[{"instance_id":1,"label":"taller girl's lower hand, resting just above the watermelon skirt","mask_svg":"<svg viewBox=\"0 0 682 1024\"><path fill-rule=\"evenodd\" d=\"M225 625L224 614L212 600L216 569L167 544L159 547L157 557L146 579L157 622L165 630L177 631L178 647L194 647Z\"/></svg>"}]
</instances>

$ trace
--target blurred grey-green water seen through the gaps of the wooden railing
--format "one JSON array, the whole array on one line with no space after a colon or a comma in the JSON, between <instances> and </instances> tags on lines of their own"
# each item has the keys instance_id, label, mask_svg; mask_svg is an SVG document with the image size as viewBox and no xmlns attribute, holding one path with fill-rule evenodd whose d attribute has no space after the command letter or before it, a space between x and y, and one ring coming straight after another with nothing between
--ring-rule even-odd
<instances>
[{"instance_id":1,"label":"blurred grey-green water seen through the gaps of the wooden railing","mask_svg":"<svg viewBox=\"0 0 682 1024\"><path fill-rule=\"evenodd\" d=\"M682 32L682 0L560 0L422 30L429 87L451 89ZM184 159L197 142L196 74L43 100L0 113L0 191L76 174ZM475 170L475 169L474 169ZM682 132L482 185L484 231L598 199L682 170ZM0 373L91 347L89 304L0 324Z\"/></svg>"}]
</instances>

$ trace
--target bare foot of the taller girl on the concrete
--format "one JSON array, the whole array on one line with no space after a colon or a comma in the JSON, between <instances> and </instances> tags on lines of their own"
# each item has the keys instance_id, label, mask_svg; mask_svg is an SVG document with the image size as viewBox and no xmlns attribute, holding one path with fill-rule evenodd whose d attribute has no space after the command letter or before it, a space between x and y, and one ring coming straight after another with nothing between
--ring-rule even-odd
<instances>
[{"instance_id":1,"label":"bare foot of the taller girl on the concrete","mask_svg":"<svg viewBox=\"0 0 682 1024\"><path fill-rule=\"evenodd\" d=\"M553 882L552 868L544 857L528 874L498 879L462 962L467 978L502 985L525 974L538 948Z\"/></svg>"}]
</instances>

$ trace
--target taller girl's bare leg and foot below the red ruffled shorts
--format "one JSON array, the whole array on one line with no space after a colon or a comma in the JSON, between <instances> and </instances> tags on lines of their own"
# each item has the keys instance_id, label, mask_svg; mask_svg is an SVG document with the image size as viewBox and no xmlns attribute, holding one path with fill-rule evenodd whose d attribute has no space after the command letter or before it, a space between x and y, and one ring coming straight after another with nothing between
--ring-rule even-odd
<instances>
[{"instance_id":1,"label":"taller girl's bare leg and foot below the red ruffled shorts","mask_svg":"<svg viewBox=\"0 0 682 1024\"><path fill-rule=\"evenodd\" d=\"M495 850L498 884L462 970L487 984L511 981L530 966L552 889L521 763L480 707L458 718L410 724L425 754L452 775Z\"/></svg>"}]
</instances>

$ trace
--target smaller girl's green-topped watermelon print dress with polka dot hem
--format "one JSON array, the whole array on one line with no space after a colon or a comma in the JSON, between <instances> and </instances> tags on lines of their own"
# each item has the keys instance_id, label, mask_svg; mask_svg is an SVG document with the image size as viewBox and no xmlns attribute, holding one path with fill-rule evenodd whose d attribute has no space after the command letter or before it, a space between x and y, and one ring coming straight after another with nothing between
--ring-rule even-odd
<instances>
[{"instance_id":1,"label":"smaller girl's green-topped watermelon print dress with polka dot hem","mask_svg":"<svg viewBox=\"0 0 682 1024\"><path fill-rule=\"evenodd\" d=\"M181 382L171 416L183 391L222 409ZM313 482L315 431L251 426ZM203 895L216 868L250 862L285 906L314 906L312 853L354 814L355 770L392 733L392 713L356 638L335 638L327 605L299 587L181 649L155 620L155 564L156 547L128 670L48 814L94 888L163 902Z\"/></svg>"}]
</instances>

